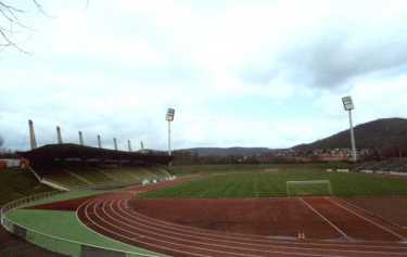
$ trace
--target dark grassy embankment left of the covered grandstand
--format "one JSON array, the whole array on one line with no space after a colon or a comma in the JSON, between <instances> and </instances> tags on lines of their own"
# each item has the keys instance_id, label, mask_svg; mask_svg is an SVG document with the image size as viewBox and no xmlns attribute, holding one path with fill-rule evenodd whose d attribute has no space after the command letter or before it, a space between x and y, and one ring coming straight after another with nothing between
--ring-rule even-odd
<instances>
[{"instance_id":1,"label":"dark grassy embankment left of the covered grandstand","mask_svg":"<svg viewBox=\"0 0 407 257\"><path fill-rule=\"evenodd\" d=\"M28 170L18 168L0 170L0 206L13 200L47 191L53 189L39 183Z\"/></svg>"}]
</instances>

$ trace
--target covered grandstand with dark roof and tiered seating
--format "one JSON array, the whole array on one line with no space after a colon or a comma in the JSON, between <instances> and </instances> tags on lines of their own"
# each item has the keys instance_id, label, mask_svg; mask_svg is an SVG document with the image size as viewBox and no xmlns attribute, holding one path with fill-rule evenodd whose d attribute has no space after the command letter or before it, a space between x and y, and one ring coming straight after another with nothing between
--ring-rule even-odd
<instances>
[{"instance_id":1,"label":"covered grandstand with dark roof and tiered seating","mask_svg":"<svg viewBox=\"0 0 407 257\"><path fill-rule=\"evenodd\" d=\"M76 144L44 145L18 153L42 183L62 190L168 180L171 156L96 149Z\"/></svg>"}]
</instances>

